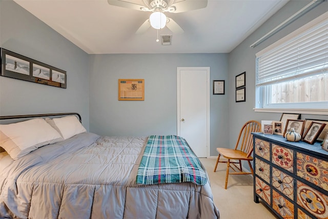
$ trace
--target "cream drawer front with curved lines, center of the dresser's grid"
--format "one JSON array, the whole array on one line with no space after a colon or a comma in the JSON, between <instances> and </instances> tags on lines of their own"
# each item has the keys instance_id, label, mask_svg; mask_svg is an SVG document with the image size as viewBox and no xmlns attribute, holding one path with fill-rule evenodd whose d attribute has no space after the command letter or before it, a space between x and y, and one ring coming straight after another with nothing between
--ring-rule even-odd
<instances>
[{"instance_id":1,"label":"cream drawer front with curved lines, center of the dresser's grid","mask_svg":"<svg viewBox=\"0 0 328 219\"><path fill-rule=\"evenodd\" d=\"M294 200L294 180L293 177L276 169L272 168L272 186L279 190L282 194Z\"/></svg>"}]
</instances>

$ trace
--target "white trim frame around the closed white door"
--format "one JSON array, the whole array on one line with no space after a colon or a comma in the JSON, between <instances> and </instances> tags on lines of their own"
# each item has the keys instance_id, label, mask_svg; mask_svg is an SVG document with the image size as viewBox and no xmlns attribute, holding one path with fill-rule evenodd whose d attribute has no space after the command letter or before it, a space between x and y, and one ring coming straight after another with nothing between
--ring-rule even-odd
<instances>
[{"instance_id":1,"label":"white trim frame around the closed white door","mask_svg":"<svg viewBox=\"0 0 328 219\"><path fill-rule=\"evenodd\" d=\"M210 97L211 97L211 92L210 92L210 67L177 67L177 135L180 135L180 71L181 70L206 70L206 74L207 74L207 97L206 97L206 103L207 103L207 142L206 142L206 147L207 147L207 157L210 157L211 154L211 120L210 120L210 114L211 114L211 110L210 110Z\"/></svg>"}]
</instances>

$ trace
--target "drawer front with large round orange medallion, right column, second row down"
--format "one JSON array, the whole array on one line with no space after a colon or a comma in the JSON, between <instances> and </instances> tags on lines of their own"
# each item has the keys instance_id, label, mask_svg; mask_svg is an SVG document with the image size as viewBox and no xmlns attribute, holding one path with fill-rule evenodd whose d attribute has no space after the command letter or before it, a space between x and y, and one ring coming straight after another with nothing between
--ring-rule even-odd
<instances>
[{"instance_id":1,"label":"drawer front with large round orange medallion, right column, second row down","mask_svg":"<svg viewBox=\"0 0 328 219\"><path fill-rule=\"evenodd\" d=\"M328 196L297 181L297 204L316 218L328 218Z\"/></svg>"}]
</instances>

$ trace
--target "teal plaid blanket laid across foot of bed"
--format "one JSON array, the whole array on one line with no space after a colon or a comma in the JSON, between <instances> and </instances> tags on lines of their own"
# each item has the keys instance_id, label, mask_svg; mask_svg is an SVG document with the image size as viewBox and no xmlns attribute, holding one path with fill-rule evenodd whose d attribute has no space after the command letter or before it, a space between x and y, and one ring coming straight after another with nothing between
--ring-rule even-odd
<instances>
[{"instance_id":1,"label":"teal plaid blanket laid across foot of bed","mask_svg":"<svg viewBox=\"0 0 328 219\"><path fill-rule=\"evenodd\" d=\"M138 168L137 184L192 182L205 185L207 181L207 172L184 138L149 136Z\"/></svg>"}]
</instances>

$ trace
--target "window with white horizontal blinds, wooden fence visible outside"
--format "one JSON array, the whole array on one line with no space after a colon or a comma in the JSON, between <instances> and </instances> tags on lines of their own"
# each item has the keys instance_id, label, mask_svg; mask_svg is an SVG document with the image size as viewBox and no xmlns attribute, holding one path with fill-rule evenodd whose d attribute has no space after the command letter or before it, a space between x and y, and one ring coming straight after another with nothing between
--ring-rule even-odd
<instances>
[{"instance_id":1,"label":"window with white horizontal blinds, wooden fence visible outside","mask_svg":"<svg viewBox=\"0 0 328 219\"><path fill-rule=\"evenodd\" d=\"M328 13L256 54L256 108L328 108Z\"/></svg>"}]
</instances>

